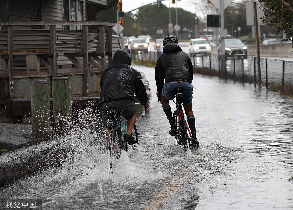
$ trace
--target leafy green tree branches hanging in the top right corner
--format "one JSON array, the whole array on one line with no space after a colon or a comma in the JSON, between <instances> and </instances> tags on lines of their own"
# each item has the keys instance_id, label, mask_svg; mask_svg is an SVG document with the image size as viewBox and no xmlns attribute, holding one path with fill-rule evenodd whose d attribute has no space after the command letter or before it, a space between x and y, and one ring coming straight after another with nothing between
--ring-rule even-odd
<instances>
[{"instance_id":1,"label":"leafy green tree branches hanging in the top right corner","mask_svg":"<svg viewBox=\"0 0 293 210\"><path fill-rule=\"evenodd\" d=\"M289 37L292 37L293 0L260 0L260 2L266 16L262 18L262 22L276 27L277 33L285 31Z\"/></svg>"}]
</instances>

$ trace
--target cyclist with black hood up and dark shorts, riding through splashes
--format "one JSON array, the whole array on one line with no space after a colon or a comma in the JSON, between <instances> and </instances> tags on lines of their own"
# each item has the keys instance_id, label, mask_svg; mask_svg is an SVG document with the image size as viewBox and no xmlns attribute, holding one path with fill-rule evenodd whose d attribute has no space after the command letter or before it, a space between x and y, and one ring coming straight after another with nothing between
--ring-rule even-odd
<instances>
[{"instance_id":1,"label":"cyclist with black hood up and dark shorts, riding through splashes","mask_svg":"<svg viewBox=\"0 0 293 210\"><path fill-rule=\"evenodd\" d=\"M131 136L136 122L134 93L146 110L149 107L144 83L138 71L130 65L130 54L125 50L117 50L113 56L112 65L102 73L100 93L100 106L102 106L103 121L108 129L108 137L117 123L119 116L116 111L118 110L127 120L127 133L124 140L129 145L136 143L134 137Z\"/></svg>"}]
</instances>

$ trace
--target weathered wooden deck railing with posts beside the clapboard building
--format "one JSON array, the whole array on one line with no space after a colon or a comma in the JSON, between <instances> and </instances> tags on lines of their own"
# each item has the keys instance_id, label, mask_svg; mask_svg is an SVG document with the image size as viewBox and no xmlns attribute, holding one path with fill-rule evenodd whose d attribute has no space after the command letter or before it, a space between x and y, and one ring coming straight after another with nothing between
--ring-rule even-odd
<instances>
[{"instance_id":1,"label":"weathered wooden deck railing with posts beside the clapboard building","mask_svg":"<svg viewBox=\"0 0 293 210\"><path fill-rule=\"evenodd\" d=\"M48 30L14 30L13 26L46 26ZM81 25L81 30L56 30L56 25ZM88 30L89 25L97 30ZM5 60L9 78L9 95L13 98L13 58L15 55L36 55L52 78L57 76L57 56L63 54L83 71L83 94L88 95L89 63L98 70L112 62L112 27L106 22L0 22L0 56ZM77 57L82 57L82 63Z\"/></svg>"}]
</instances>

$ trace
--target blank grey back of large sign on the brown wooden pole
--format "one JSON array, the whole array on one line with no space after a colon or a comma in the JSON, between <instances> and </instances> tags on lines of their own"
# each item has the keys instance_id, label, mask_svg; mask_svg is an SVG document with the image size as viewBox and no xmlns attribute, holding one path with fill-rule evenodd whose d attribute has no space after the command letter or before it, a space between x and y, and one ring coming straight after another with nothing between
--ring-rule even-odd
<instances>
[{"instance_id":1,"label":"blank grey back of large sign on the brown wooden pole","mask_svg":"<svg viewBox=\"0 0 293 210\"><path fill-rule=\"evenodd\" d=\"M259 1L256 1L256 12L257 12L257 24L265 25L265 23L261 22L261 17L264 16L262 8L260 8L261 4ZM254 18L254 2L248 1L246 2L246 25L255 25Z\"/></svg>"}]
</instances>

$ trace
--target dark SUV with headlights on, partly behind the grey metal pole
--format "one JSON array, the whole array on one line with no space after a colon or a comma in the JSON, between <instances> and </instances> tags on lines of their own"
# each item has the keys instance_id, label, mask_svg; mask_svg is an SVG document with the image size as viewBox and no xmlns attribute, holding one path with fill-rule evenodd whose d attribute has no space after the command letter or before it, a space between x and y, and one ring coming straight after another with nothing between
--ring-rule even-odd
<instances>
[{"instance_id":1,"label":"dark SUV with headlights on, partly behind the grey metal pole","mask_svg":"<svg viewBox=\"0 0 293 210\"><path fill-rule=\"evenodd\" d=\"M217 47L218 55L221 55L221 43ZM225 39L225 57L247 58L247 47L240 39Z\"/></svg>"}]
</instances>

